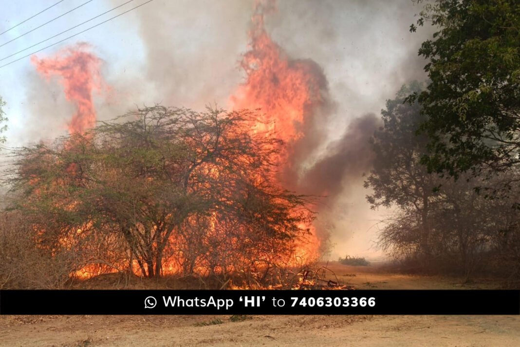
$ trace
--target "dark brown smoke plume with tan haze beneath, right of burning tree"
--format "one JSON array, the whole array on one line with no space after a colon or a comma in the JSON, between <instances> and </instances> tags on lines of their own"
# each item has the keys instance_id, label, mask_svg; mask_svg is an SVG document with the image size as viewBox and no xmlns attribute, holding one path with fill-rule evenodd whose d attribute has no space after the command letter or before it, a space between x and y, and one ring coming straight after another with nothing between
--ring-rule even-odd
<instances>
[{"instance_id":1,"label":"dark brown smoke plume with tan haze beneath, right of burning tree","mask_svg":"<svg viewBox=\"0 0 520 347\"><path fill-rule=\"evenodd\" d=\"M352 120L341 138L329 143L296 181L296 191L321 197L315 206L318 212L315 228L322 252L330 251L331 238L341 240L352 235L352 229L340 225L360 219L359 214L353 213L352 205L364 202L363 191L356 188L362 186L362 175L372 168L374 153L370 138L380 125L380 118L373 113ZM365 221L368 220L365 216Z\"/></svg>"}]
</instances>

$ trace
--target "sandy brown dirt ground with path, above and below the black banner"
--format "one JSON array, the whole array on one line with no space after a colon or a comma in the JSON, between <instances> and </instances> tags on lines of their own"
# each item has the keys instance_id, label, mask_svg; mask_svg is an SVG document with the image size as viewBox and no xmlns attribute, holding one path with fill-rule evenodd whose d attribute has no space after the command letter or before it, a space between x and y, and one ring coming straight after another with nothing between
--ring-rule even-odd
<instances>
[{"instance_id":1,"label":"sandy brown dirt ground with path, above and below the black banner","mask_svg":"<svg viewBox=\"0 0 520 347\"><path fill-rule=\"evenodd\" d=\"M474 289L457 278L329 264L359 289ZM0 316L0 346L520 346L520 316Z\"/></svg>"}]
</instances>

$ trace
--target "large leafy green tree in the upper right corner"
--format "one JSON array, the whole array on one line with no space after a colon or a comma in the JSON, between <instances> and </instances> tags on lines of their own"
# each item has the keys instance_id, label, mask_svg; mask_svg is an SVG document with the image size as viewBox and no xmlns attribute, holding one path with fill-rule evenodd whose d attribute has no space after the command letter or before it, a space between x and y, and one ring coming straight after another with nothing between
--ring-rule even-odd
<instances>
[{"instance_id":1,"label":"large leafy green tree in the upper right corner","mask_svg":"<svg viewBox=\"0 0 520 347\"><path fill-rule=\"evenodd\" d=\"M427 21L438 28L419 50L431 83L411 98L428 115L423 161L454 177L510 170L520 163L520 4L436 0Z\"/></svg>"}]
</instances>

